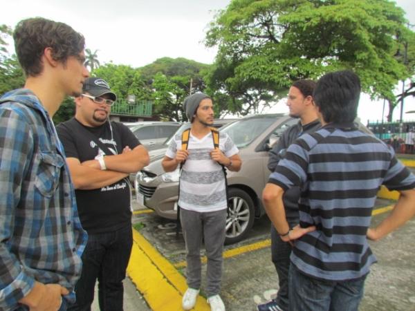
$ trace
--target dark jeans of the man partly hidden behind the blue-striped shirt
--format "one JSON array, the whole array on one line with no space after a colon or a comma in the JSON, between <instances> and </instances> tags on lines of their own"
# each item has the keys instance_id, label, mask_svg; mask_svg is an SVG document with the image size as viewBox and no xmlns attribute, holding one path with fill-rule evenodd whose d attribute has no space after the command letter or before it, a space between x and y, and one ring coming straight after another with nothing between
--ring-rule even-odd
<instances>
[{"instance_id":1,"label":"dark jeans of the man partly hidden behind the blue-striped shirt","mask_svg":"<svg viewBox=\"0 0 415 311\"><path fill-rule=\"evenodd\" d=\"M291 245L282 241L275 227L271 224L271 258L278 274L279 290L277 304L279 308L288 310L288 270L290 268Z\"/></svg>"}]
</instances>

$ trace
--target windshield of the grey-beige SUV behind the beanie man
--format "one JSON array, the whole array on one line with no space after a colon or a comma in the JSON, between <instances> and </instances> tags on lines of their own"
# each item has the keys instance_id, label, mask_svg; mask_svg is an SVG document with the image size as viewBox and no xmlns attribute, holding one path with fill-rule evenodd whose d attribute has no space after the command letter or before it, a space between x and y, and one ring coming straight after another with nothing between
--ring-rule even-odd
<instances>
[{"instance_id":1,"label":"windshield of the grey-beige SUV behind the beanie man","mask_svg":"<svg viewBox=\"0 0 415 311\"><path fill-rule=\"evenodd\" d=\"M238 148L243 148L254 141L273 122L275 122L275 117L252 117L232 122L219 131L227 133Z\"/></svg>"}]
</instances>

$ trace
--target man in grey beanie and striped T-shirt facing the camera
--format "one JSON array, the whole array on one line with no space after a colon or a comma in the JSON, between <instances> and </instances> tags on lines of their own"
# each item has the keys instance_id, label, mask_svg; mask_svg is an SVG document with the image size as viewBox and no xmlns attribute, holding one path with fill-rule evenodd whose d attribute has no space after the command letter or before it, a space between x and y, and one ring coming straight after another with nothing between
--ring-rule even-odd
<instances>
[{"instance_id":1,"label":"man in grey beanie and striped T-shirt facing the camera","mask_svg":"<svg viewBox=\"0 0 415 311\"><path fill-rule=\"evenodd\" d=\"M187 149L182 150L178 134L169 144L163 159L163 169L174 171L181 165L178 206L186 243L187 291L183 295L184 310L194 308L201 286L201 242L205 241L208 257L207 285L210 309L225 311L219 296L222 279L222 252L225 241L227 198L225 175L241 169L239 150L225 133L219 132L219 148L214 147L213 102L204 93L195 93L185 99L183 109L192 126Z\"/></svg>"}]
</instances>

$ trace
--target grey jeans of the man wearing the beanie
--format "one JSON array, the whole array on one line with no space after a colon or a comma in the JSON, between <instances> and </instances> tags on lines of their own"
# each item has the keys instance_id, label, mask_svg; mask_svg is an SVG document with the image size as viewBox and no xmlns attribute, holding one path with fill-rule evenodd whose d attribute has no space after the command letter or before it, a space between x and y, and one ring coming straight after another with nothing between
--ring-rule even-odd
<instances>
[{"instance_id":1,"label":"grey jeans of the man wearing the beanie","mask_svg":"<svg viewBox=\"0 0 415 311\"><path fill-rule=\"evenodd\" d=\"M208 297L219 294L222 280L226 209L207 213L181 209L180 219L187 251L187 285L196 290L201 287L201 244L203 238L208 257L206 294Z\"/></svg>"}]
</instances>

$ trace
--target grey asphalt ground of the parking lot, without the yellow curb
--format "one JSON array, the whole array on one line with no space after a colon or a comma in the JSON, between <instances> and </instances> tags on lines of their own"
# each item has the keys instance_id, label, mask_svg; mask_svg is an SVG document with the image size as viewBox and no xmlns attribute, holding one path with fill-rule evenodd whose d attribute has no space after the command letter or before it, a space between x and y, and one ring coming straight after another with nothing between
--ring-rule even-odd
<instances>
[{"instance_id":1,"label":"grey asphalt ground of the parking lot, without the yellow curb","mask_svg":"<svg viewBox=\"0 0 415 311\"><path fill-rule=\"evenodd\" d=\"M389 204L390 201L387 200L378 201L378 207ZM374 216L374 225L386 215L387 213L382 213ZM176 237L175 224L154 213L135 215L133 223L140 223L140 234L184 275L185 245L182 236ZM277 274L270 261L270 247L264 246L269 245L269 228L269 220L266 217L261 218L255 223L245 241L225 247L225 253L235 252L224 261L221 296L226 310L256 310L257 303L267 301L277 292ZM410 220L382 241L371 243L378 263L372 265L367 278L365 297L360 304L360 310L415 311L414 238L415 220ZM253 249L250 250L250 245L261 246L251 247ZM203 281L204 275L205 265ZM130 280L126 280L124 284L124 310L151 310ZM205 283L201 288L202 295L204 285ZM96 303L93 310L99 310Z\"/></svg>"}]
</instances>

